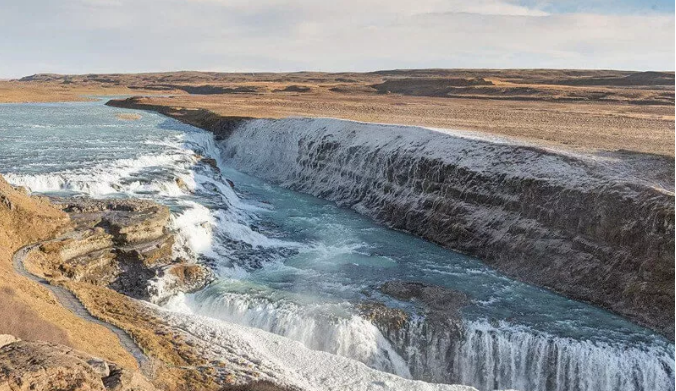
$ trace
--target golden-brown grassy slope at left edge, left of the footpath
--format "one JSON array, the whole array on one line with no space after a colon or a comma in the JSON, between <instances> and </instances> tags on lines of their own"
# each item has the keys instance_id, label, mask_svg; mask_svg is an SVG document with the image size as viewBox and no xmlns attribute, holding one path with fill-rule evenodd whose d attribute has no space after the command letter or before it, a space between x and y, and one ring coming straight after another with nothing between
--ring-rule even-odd
<instances>
[{"instance_id":1,"label":"golden-brown grassy slope at left edge, left of the footpath","mask_svg":"<svg viewBox=\"0 0 676 391\"><path fill-rule=\"evenodd\" d=\"M44 285L15 271L15 251L70 229L68 215L45 197L29 196L25 189L12 187L0 176L0 334L68 345L135 368L134 357L112 332L63 308Z\"/></svg>"}]
</instances>

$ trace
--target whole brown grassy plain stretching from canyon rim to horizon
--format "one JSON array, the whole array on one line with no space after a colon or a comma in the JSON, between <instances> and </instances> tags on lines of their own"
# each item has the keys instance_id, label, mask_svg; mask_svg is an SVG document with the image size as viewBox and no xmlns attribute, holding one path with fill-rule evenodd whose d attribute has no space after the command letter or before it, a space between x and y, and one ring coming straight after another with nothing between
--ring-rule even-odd
<instances>
[{"instance_id":1,"label":"whole brown grassy plain stretching from canyon rim to horizon","mask_svg":"<svg viewBox=\"0 0 676 391\"><path fill-rule=\"evenodd\" d=\"M673 79L673 72L490 69L37 75L0 82L0 102L169 94L174 97L152 103L223 116L335 117L674 156Z\"/></svg>"}]
</instances>

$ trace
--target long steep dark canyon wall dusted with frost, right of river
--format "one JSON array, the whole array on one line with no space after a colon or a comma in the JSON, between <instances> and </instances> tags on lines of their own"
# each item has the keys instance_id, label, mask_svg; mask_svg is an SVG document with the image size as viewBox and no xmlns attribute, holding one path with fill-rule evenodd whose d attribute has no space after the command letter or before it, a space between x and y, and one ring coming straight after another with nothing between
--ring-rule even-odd
<instances>
[{"instance_id":1,"label":"long steep dark canyon wall dusted with frost, right of river","mask_svg":"<svg viewBox=\"0 0 676 391\"><path fill-rule=\"evenodd\" d=\"M234 167L478 256L673 339L673 182L646 158L327 119L248 120L137 104L214 132ZM647 162L647 163L646 163Z\"/></svg>"}]
</instances>

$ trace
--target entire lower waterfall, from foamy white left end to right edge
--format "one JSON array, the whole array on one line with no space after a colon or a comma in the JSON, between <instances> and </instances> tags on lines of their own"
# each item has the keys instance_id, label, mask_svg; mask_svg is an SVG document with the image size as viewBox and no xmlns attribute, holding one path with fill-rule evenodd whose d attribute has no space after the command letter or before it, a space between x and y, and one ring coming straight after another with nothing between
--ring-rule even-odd
<instances>
[{"instance_id":1,"label":"entire lower waterfall, from foamy white left end to right edge","mask_svg":"<svg viewBox=\"0 0 676 391\"><path fill-rule=\"evenodd\" d=\"M485 321L468 321L459 334L424 317L413 317L400 329L379 330L346 303L298 305L208 290L191 298L181 295L169 308L256 327L314 350L434 383L486 391L673 389L673 351L654 346L577 341Z\"/></svg>"}]
</instances>

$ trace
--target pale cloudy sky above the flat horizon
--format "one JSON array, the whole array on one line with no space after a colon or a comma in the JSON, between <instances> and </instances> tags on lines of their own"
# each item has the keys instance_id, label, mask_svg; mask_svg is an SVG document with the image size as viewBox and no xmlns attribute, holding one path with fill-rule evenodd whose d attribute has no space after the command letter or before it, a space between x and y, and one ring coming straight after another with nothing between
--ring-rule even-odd
<instances>
[{"instance_id":1,"label":"pale cloudy sky above the flat horizon","mask_svg":"<svg viewBox=\"0 0 676 391\"><path fill-rule=\"evenodd\" d=\"M0 78L674 70L674 12L673 0L0 0Z\"/></svg>"}]
</instances>

